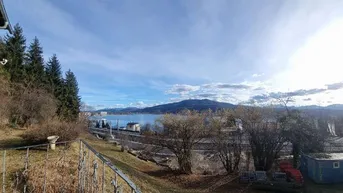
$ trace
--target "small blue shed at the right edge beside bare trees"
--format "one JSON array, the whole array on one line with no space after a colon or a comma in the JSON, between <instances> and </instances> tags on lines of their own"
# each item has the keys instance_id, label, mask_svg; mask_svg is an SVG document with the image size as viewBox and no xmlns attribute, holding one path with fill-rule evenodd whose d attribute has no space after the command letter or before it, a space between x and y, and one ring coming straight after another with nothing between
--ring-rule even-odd
<instances>
[{"instance_id":1,"label":"small blue shed at the right edge beside bare trees","mask_svg":"<svg viewBox=\"0 0 343 193\"><path fill-rule=\"evenodd\" d=\"M315 153L302 155L300 170L316 183L343 182L343 153Z\"/></svg>"}]
</instances>

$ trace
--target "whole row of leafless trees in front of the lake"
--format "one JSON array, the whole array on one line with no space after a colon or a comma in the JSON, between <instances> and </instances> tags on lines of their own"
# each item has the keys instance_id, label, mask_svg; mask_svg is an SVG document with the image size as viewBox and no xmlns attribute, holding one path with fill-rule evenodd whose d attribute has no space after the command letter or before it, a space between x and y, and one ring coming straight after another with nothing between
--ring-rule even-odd
<instances>
[{"instance_id":1,"label":"whole row of leafless trees in front of the lake","mask_svg":"<svg viewBox=\"0 0 343 193\"><path fill-rule=\"evenodd\" d=\"M242 130L236 125L238 119L242 121ZM155 136L151 139L172 151L179 170L187 174L192 173L195 164L192 150L204 137L211 139L218 159L229 174L240 169L243 142L249 143L255 169L269 171L283 148L292 145L294 167L297 167L301 152L322 151L325 141L311 117L298 111L275 111L267 107L241 106L214 113L183 111L164 115L158 123L160 131L146 136Z\"/></svg>"}]
</instances>

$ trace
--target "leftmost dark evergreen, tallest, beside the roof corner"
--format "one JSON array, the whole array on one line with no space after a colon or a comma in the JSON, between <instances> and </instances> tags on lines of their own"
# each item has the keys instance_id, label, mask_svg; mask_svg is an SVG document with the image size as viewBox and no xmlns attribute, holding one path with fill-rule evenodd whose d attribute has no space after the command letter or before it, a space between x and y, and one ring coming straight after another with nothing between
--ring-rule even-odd
<instances>
[{"instance_id":1,"label":"leftmost dark evergreen, tallest, beside the roof corner","mask_svg":"<svg viewBox=\"0 0 343 193\"><path fill-rule=\"evenodd\" d=\"M12 82L23 82L24 73L24 56L26 49L26 39L23 35L23 29L16 24L13 29L13 35L7 34L4 37L3 58L8 62L5 69L9 72Z\"/></svg>"}]
</instances>

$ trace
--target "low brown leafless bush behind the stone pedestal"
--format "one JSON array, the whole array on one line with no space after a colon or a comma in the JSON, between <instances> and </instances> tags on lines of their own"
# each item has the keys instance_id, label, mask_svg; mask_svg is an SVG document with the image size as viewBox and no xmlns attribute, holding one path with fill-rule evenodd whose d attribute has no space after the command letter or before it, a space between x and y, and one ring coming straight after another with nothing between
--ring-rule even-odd
<instances>
[{"instance_id":1,"label":"low brown leafless bush behind the stone pedestal","mask_svg":"<svg viewBox=\"0 0 343 193\"><path fill-rule=\"evenodd\" d=\"M81 123L70 123L53 120L35 126L22 135L23 139L30 144L47 143L47 137L59 136L58 141L71 141L79 137L84 125Z\"/></svg>"}]
</instances>

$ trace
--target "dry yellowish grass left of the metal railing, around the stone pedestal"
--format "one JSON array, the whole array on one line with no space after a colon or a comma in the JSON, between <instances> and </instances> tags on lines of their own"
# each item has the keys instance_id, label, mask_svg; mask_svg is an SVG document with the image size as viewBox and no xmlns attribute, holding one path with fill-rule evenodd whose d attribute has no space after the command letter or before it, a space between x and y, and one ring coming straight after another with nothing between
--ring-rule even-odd
<instances>
[{"instance_id":1,"label":"dry yellowish grass left of the metal railing, around the stone pedestal","mask_svg":"<svg viewBox=\"0 0 343 193\"><path fill-rule=\"evenodd\" d=\"M1 130L0 147L9 148L27 145L20 138L23 132L25 130ZM23 192L24 185L27 192L43 192L44 180L46 180L47 193L61 192L63 188L66 192L75 192L78 166L78 159L75 159L78 157L77 144L58 146L55 151L50 150L48 161L46 161L46 149L47 146L30 148L28 150L28 159L26 159L27 149L6 150L5 188L7 192ZM4 151L0 151L0 153L2 172ZM28 166L27 170L25 170L26 164ZM0 178L2 186L2 175Z\"/></svg>"}]
</instances>

